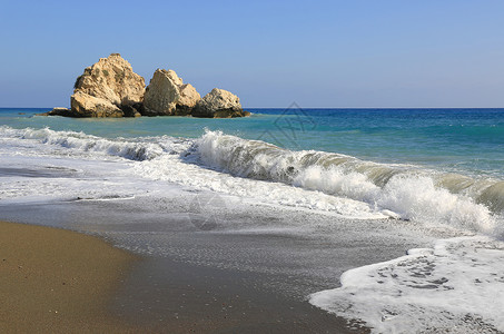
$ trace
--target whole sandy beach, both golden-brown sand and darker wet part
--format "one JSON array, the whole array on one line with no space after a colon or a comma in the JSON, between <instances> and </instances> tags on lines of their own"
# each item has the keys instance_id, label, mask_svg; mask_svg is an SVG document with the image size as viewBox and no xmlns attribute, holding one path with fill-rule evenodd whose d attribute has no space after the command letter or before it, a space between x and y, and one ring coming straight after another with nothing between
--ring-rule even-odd
<instances>
[{"instance_id":1,"label":"whole sandy beach, both golden-brown sand and darker wet part","mask_svg":"<svg viewBox=\"0 0 504 334\"><path fill-rule=\"evenodd\" d=\"M139 257L62 229L0 223L1 333L363 333L266 276Z\"/></svg>"}]
</instances>

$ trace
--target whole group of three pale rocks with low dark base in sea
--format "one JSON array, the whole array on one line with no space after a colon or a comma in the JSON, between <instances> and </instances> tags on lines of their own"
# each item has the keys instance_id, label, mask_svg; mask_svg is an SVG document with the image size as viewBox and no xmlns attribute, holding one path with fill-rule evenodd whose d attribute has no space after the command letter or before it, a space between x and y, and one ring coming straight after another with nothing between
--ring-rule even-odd
<instances>
[{"instance_id":1,"label":"whole group of three pale rocks with low dark base in sea","mask_svg":"<svg viewBox=\"0 0 504 334\"><path fill-rule=\"evenodd\" d=\"M145 79L134 72L119 53L101 58L87 67L73 86L70 109L55 108L46 116L139 117L194 116L210 118L244 117L239 98L214 88L202 99L190 84L174 70L157 69L145 87Z\"/></svg>"}]
</instances>

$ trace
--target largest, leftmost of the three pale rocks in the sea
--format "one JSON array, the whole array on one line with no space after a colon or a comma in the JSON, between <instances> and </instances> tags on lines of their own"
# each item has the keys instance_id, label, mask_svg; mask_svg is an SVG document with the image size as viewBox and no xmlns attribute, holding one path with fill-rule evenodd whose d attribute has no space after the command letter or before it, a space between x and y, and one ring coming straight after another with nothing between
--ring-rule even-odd
<instances>
[{"instance_id":1,"label":"largest, leftmost of the three pale rocks in the sea","mask_svg":"<svg viewBox=\"0 0 504 334\"><path fill-rule=\"evenodd\" d=\"M73 88L71 114L78 117L137 116L145 80L119 53L112 53L86 68Z\"/></svg>"}]
</instances>

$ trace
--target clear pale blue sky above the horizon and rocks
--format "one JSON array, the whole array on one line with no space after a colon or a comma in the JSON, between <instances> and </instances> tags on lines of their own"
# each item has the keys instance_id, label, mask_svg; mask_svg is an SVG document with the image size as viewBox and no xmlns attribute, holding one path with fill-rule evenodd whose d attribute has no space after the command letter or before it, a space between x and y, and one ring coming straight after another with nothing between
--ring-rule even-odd
<instances>
[{"instance_id":1,"label":"clear pale blue sky above the horizon and rocks","mask_svg":"<svg viewBox=\"0 0 504 334\"><path fill-rule=\"evenodd\" d=\"M119 52L245 108L504 107L504 1L0 0L0 107L69 107Z\"/></svg>"}]
</instances>

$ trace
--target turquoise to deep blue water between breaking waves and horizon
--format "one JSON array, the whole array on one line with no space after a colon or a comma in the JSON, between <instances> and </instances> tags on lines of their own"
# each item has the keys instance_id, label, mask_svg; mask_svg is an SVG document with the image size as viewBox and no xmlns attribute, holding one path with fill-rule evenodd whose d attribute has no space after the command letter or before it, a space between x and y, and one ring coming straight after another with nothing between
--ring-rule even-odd
<instances>
[{"instance_id":1,"label":"turquoise to deep blue water between breaking waves and horizon","mask_svg":"<svg viewBox=\"0 0 504 334\"><path fill-rule=\"evenodd\" d=\"M504 109L248 109L250 118L71 119L49 109L0 109L0 125L49 127L106 138L198 138L206 129L291 150L323 150L386 164L415 164L473 177L504 177ZM20 115L24 112L24 115Z\"/></svg>"}]
</instances>

